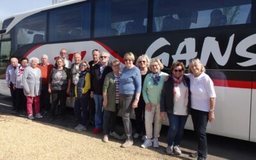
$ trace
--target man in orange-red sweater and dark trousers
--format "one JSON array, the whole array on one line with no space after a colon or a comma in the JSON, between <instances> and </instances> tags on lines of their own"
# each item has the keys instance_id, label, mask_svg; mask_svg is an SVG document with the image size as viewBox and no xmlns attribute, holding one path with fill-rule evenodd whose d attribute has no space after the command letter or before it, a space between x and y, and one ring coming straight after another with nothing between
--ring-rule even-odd
<instances>
[{"instance_id":1,"label":"man in orange-red sweater and dark trousers","mask_svg":"<svg viewBox=\"0 0 256 160\"><path fill-rule=\"evenodd\" d=\"M39 63L37 67L40 68L42 74L40 109L41 113L46 115L50 108L50 94L48 92L48 81L53 65L48 62L48 56L46 54L43 54L41 57L41 63Z\"/></svg>"}]
</instances>

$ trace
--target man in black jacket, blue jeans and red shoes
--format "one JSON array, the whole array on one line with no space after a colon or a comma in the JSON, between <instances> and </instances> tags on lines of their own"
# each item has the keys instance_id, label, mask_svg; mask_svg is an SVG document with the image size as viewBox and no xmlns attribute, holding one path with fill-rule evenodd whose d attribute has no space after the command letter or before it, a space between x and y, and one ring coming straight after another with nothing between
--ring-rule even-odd
<instances>
[{"instance_id":1,"label":"man in black jacket, blue jeans and red shoes","mask_svg":"<svg viewBox=\"0 0 256 160\"><path fill-rule=\"evenodd\" d=\"M102 131L103 124L103 109L102 109L102 88L106 75L112 72L112 68L108 65L109 54L108 52L100 52L100 61L92 68L91 78L91 97L95 101L95 129L93 134Z\"/></svg>"}]
</instances>

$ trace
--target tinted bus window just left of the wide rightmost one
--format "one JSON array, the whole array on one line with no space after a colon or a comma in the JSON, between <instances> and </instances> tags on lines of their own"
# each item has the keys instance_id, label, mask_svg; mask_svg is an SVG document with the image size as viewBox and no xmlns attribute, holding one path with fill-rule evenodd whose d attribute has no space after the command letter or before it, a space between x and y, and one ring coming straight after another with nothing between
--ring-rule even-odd
<instances>
[{"instance_id":1,"label":"tinted bus window just left of the wide rightmost one","mask_svg":"<svg viewBox=\"0 0 256 160\"><path fill-rule=\"evenodd\" d=\"M95 37L147 31L147 0L99 0L95 6Z\"/></svg>"}]
</instances>

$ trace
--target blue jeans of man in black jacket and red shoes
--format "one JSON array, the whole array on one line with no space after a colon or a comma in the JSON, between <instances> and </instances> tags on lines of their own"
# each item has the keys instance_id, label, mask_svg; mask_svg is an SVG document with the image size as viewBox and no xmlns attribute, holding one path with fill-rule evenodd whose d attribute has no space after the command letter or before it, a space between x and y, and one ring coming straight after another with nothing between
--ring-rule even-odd
<instances>
[{"instance_id":1,"label":"blue jeans of man in black jacket and red shoes","mask_svg":"<svg viewBox=\"0 0 256 160\"><path fill-rule=\"evenodd\" d=\"M102 129L103 124L103 96L102 95L93 95L93 99L95 101L95 128Z\"/></svg>"}]
</instances>

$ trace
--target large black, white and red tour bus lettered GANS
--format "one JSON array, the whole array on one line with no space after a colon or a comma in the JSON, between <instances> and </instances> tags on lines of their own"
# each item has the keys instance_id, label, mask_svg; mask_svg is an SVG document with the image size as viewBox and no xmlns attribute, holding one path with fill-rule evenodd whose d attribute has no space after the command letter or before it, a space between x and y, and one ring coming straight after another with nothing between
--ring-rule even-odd
<instances>
[{"instance_id":1,"label":"large black, white and red tour bus lettered GANS","mask_svg":"<svg viewBox=\"0 0 256 160\"><path fill-rule=\"evenodd\" d=\"M3 95L12 57L47 54L54 63L65 48L70 61L74 52L90 61L99 49L124 63L131 51L161 59L164 72L200 58L217 95L207 132L256 142L256 1L75 0L8 17L0 33Z\"/></svg>"}]
</instances>

